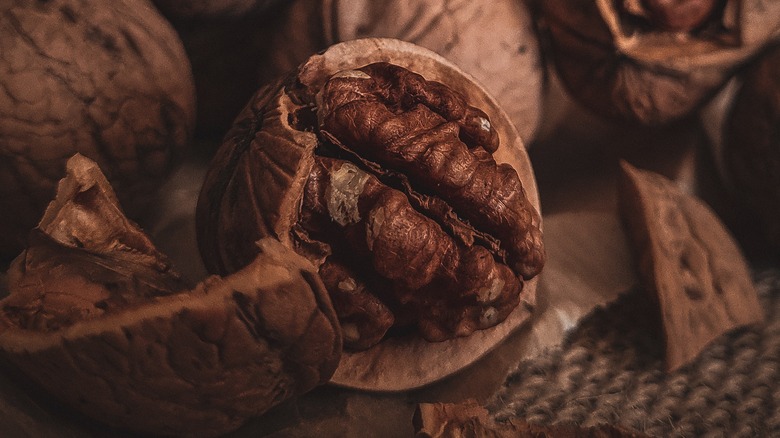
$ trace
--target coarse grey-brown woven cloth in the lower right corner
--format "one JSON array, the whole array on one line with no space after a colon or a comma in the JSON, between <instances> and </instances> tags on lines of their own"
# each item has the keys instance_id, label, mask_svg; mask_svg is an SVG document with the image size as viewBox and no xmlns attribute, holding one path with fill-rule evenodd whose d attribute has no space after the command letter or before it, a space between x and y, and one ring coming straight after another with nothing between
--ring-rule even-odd
<instances>
[{"instance_id":1,"label":"coarse grey-brown woven cloth in the lower right corner","mask_svg":"<svg viewBox=\"0 0 780 438\"><path fill-rule=\"evenodd\" d=\"M609 423L659 437L780 437L780 270L755 274L766 323L718 338L663 371L641 291L594 311L560 349L521 363L488 403L497 420Z\"/></svg>"}]
</instances>

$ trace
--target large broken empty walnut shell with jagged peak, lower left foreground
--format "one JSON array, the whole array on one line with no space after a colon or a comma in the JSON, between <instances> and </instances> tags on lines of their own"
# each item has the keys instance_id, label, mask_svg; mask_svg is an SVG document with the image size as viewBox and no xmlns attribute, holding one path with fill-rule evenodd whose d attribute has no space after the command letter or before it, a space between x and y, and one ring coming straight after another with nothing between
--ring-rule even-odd
<instances>
[{"instance_id":1,"label":"large broken empty walnut shell with jagged peak, lower left foreground","mask_svg":"<svg viewBox=\"0 0 780 438\"><path fill-rule=\"evenodd\" d=\"M188 288L76 155L0 301L0 354L100 422L216 436L328 380L338 320L314 267L266 239Z\"/></svg>"}]
</instances>

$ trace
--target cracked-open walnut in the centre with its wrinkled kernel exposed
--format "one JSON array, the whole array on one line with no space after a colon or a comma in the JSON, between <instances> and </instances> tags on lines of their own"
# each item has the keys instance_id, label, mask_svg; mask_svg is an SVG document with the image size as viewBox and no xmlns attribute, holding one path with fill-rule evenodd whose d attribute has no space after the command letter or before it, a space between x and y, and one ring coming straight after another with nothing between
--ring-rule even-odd
<instances>
[{"instance_id":1,"label":"cracked-open walnut in the centre with its wrinkled kernel exposed","mask_svg":"<svg viewBox=\"0 0 780 438\"><path fill-rule=\"evenodd\" d=\"M393 39L334 45L259 90L197 208L208 269L233 272L254 257L249 242L279 239L318 266L345 347L403 339L390 359L400 366L423 339L524 320L545 261L540 227L533 172L506 114L453 64ZM469 342L484 352L507 330ZM463 348L447 360L476 357Z\"/></svg>"}]
</instances>

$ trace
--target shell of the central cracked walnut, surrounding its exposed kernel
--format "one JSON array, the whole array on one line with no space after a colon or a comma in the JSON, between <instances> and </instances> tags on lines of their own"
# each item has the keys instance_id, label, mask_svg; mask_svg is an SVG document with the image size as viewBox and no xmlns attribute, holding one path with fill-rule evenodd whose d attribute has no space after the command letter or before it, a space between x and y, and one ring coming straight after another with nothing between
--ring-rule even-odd
<instances>
[{"instance_id":1,"label":"shell of the central cracked walnut, surrounding its exposed kernel","mask_svg":"<svg viewBox=\"0 0 780 438\"><path fill-rule=\"evenodd\" d=\"M470 105L485 111L490 119L489 122L485 120L487 126L492 126L491 129L495 130L501 141L493 158L511 166L515 178L519 176L522 184L518 193L524 191L529 204L538 211L536 183L522 140L506 114L481 86L452 63L414 44L393 39L353 40L336 44L312 56L279 84L260 90L237 118L212 161L198 202L199 243L209 269L230 272L240 268L253 253L246 242L264 236L278 238L321 266L327 264L328 251L332 248L324 248L323 243L311 238L314 234L306 234L313 232L303 230L301 225L309 214L309 198L304 193L309 190L313 178L317 179L311 175L320 166L315 164L321 162L315 158L321 155L320 145L333 145L332 142L339 141L336 131L331 131L336 136L334 138L328 137L327 132L321 130L320 126L324 125L318 125L315 112L320 115L327 112L323 109L328 107L324 86L332 83L333 78L345 81L376 78L378 76L374 70L365 69L388 68L376 67L376 62L386 62L420 73L428 81L439 82L438 86L450 86L464 96ZM370 71L371 75L355 69ZM356 93L345 91L341 95L360 94ZM312 107L315 95L316 99L321 99L317 100L319 103L316 108ZM357 116L355 123L361 118L360 114ZM323 123L327 123L327 118ZM371 164L356 162L356 166L351 166L354 171L345 171L345 175L362 175L363 171L357 166L363 169L364 166L370 168ZM341 170L351 167L342 166ZM334 185L332 189L344 189L344 193L347 193L353 183L359 183L358 192L362 196L366 193L363 190L368 190L364 189L368 187L365 184L369 184L366 180L371 178L358 178L360 181L348 178L344 180L344 187L337 189ZM419 184L419 179L410 179L409 182L412 185ZM348 200L349 195L346 196ZM496 196L500 195L496 193ZM478 204L472 205L474 210L482 208ZM350 222L352 220L361 220L360 217L353 219L353 213L347 209L341 219L331 216L331 223L345 225L341 222L346 222L346 225L350 225L356 223ZM534 220L540 220L538 215ZM325 236L332 235L326 233ZM336 237L331 239L335 240ZM407 239L415 241L414 238ZM367 244L371 245L370 242ZM541 242L536 244L541 245ZM372 251L369 248L369 258L374 257ZM376 268L376 262L372 263ZM416 264L420 263L409 261L409 273L401 281L417 281L416 276L423 275L416 270ZM535 272L528 278L533 275ZM389 283L388 280L380 280L373 284L381 288L383 281ZM416 334L387 337L366 351L342 355L341 364L332 381L347 386L392 390L424 385L449 375L478 359L527 320L529 309L535 303L536 279L526 281L522 287L522 293L518 295L520 302L510 308L510 311L514 311L506 315L503 323L493 328L474 333L468 331L471 334L467 337L437 343L427 342ZM372 289L372 292L376 291ZM396 316L399 315L404 317L403 312L396 313ZM438 365L430 367L430 363Z\"/></svg>"}]
</instances>

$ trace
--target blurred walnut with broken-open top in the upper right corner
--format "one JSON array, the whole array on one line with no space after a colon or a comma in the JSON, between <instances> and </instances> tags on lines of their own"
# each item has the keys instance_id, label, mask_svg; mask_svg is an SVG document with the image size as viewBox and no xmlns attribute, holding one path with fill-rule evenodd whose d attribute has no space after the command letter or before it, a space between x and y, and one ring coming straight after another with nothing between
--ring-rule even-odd
<instances>
[{"instance_id":1,"label":"blurred walnut with broken-open top in the upper right corner","mask_svg":"<svg viewBox=\"0 0 780 438\"><path fill-rule=\"evenodd\" d=\"M572 97L600 115L643 125L691 115L780 37L780 3L764 0L535 3Z\"/></svg>"}]
</instances>

